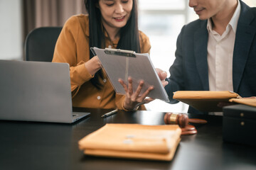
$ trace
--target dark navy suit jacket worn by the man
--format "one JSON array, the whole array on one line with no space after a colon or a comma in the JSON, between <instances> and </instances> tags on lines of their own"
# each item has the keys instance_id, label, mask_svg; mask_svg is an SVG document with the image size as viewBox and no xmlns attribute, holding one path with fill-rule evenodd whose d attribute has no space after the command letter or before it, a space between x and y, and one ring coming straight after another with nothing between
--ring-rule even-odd
<instances>
[{"instance_id":1,"label":"dark navy suit jacket worn by the man","mask_svg":"<svg viewBox=\"0 0 256 170\"><path fill-rule=\"evenodd\" d=\"M242 97L256 96L256 8L242 1L233 52L233 89ZM183 26L178 35L176 60L165 87L170 103L174 91L208 91L207 20ZM189 108L188 113L201 113Z\"/></svg>"}]
</instances>

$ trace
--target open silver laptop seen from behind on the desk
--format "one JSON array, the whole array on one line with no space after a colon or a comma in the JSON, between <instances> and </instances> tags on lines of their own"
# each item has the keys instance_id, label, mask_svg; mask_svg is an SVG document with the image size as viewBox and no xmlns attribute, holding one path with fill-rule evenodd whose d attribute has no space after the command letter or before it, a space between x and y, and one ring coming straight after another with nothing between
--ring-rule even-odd
<instances>
[{"instance_id":1,"label":"open silver laptop seen from behind on the desk","mask_svg":"<svg viewBox=\"0 0 256 170\"><path fill-rule=\"evenodd\" d=\"M0 60L0 120L73 123L90 113L73 112L66 63Z\"/></svg>"}]
</instances>

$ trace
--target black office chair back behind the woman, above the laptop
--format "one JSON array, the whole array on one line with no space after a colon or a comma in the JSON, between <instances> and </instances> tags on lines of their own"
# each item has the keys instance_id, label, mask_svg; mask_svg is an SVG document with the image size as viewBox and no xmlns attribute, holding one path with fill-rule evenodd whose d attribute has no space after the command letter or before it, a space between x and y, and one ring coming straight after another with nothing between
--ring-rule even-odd
<instances>
[{"instance_id":1,"label":"black office chair back behind the woman, above the laptop","mask_svg":"<svg viewBox=\"0 0 256 170\"><path fill-rule=\"evenodd\" d=\"M25 61L51 62L55 43L62 27L41 27L28 33L25 41Z\"/></svg>"}]
</instances>

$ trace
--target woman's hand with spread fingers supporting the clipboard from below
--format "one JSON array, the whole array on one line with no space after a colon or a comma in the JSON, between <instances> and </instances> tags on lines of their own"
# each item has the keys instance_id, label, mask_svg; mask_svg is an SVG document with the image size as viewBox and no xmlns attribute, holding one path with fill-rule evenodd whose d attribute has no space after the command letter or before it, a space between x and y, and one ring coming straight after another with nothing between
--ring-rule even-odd
<instances>
[{"instance_id":1,"label":"woman's hand with spread fingers supporting the clipboard from below","mask_svg":"<svg viewBox=\"0 0 256 170\"><path fill-rule=\"evenodd\" d=\"M126 92L125 100L124 100L124 108L128 111L134 111L138 106L149 103L151 101L154 101L154 98L146 98L146 96L149 95L149 92L154 89L153 86L149 86L149 88L142 94L142 96L139 96L140 92L142 91L142 86L144 85L144 81L139 82L139 86L137 87L137 90L134 92L132 90L132 78L128 78L128 86L124 84L124 81L122 79L118 80L120 84L124 87L124 91Z\"/></svg>"}]
</instances>

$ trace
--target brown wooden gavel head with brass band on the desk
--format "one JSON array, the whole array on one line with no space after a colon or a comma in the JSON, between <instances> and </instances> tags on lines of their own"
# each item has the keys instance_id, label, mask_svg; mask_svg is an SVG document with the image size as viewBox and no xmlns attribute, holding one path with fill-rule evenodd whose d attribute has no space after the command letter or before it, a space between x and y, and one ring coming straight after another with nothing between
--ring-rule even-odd
<instances>
[{"instance_id":1,"label":"brown wooden gavel head with brass band on the desk","mask_svg":"<svg viewBox=\"0 0 256 170\"><path fill-rule=\"evenodd\" d=\"M178 125L184 128L188 125L188 115L185 113L166 113L164 115L164 123L166 125Z\"/></svg>"}]
</instances>

